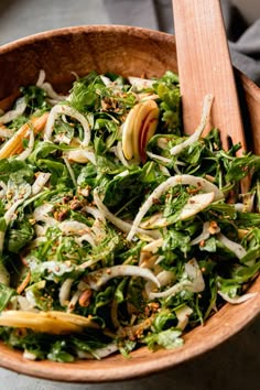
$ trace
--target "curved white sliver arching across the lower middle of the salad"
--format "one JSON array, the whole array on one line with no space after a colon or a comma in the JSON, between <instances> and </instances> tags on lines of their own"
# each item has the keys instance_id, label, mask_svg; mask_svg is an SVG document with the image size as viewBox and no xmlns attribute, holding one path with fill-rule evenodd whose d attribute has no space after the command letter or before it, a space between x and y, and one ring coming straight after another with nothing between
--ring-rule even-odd
<instances>
[{"instance_id":1,"label":"curved white sliver arching across the lower middle of the salad","mask_svg":"<svg viewBox=\"0 0 260 390\"><path fill-rule=\"evenodd\" d=\"M106 284L110 279L117 277L141 277L153 282L158 288L160 286L156 277L147 268L141 268L138 266L113 266L110 268L101 268L100 270L90 272L85 282L93 290L99 290L104 284Z\"/></svg>"}]
</instances>

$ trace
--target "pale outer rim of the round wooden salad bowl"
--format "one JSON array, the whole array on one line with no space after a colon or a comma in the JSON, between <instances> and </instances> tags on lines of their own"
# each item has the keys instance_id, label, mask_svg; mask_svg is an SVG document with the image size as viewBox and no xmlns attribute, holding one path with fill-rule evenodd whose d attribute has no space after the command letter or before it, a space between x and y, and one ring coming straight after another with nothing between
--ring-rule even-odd
<instances>
[{"instance_id":1,"label":"pale outer rim of the round wooden salad bowl","mask_svg":"<svg viewBox=\"0 0 260 390\"><path fill-rule=\"evenodd\" d=\"M127 25L91 24L55 29L19 39L2 45L0 47L0 56L10 53L18 47L25 47L32 43L45 41L54 36L93 32L122 33L142 36L142 39L152 39L156 42L165 42L165 40L171 41L172 43L174 42L173 35L150 29ZM256 85L245 77L245 75L239 77L243 83L249 82L248 85L250 85L251 88L256 88ZM258 278L250 291L260 291L260 278ZM234 314L239 312L240 315L236 315L236 323L221 324L217 334L210 334L207 332L209 329L214 331L218 328L219 317L221 318L223 313L227 311ZM115 356L111 356L101 361L80 360L73 364L59 364L46 360L29 361L22 357L20 351L10 349L3 345L3 343L0 343L0 366L20 373L66 382L100 383L137 379L173 368L214 349L228 338L241 332L259 315L259 313L260 294L257 294L250 301L239 305L239 307L227 304L209 318L205 326L198 326L189 332L188 336L185 337L186 343L183 347L173 350L160 350L158 353L148 351L148 349L143 347L141 350L139 349L132 353L132 358L130 359L126 359L121 356L117 356L116 358ZM193 338L195 335L197 336Z\"/></svg>"}]
</instances>

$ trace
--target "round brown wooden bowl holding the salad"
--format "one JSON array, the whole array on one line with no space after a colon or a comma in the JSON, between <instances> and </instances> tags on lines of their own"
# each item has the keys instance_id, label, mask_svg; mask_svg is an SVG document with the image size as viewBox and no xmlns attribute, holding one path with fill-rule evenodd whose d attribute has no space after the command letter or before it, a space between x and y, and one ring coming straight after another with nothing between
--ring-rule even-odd
<instances>
[{"instance_id":1,"label":"round brown wooden bowl holding the salad","mask_svg":"<svg viewBox=\"0 0 260 390\"><path fill-rule=\"evenodd\" d=\"M172 35L140 28L91 25L55 30L29 36L0 47L0 107L7 108L19 87L34 84L39 71L57 90L68 89L74 76L89 71L121 75L162 76L177 71L175 41ZM253 151L260 153L260 89L236 71L243 108L246 134ZM250 291L260 291L260 278ZM0 344L0 365L30 376L78 382L105 382L133 379L171 368L208 351L241 331L260 312L260 294L240 304L226 304L185 336L183 347L152 353L141 348L126 359L113 355L101 361L73 364L29 361L17 350ZM241 351L242 353L242 351Z\"/></svg>"}]
</instances>

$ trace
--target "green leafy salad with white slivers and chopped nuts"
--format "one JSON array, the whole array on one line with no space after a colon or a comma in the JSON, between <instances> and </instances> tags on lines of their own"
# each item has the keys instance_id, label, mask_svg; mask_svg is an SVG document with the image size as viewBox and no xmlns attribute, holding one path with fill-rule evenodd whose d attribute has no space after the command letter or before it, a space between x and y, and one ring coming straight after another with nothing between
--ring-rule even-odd
<instances>
[{"instance_id":1,"label":"green leafy salad with white slivers and chopped nuts","mask_svg":"<svg viewBox=\"0 0 260 390\"><path fill-rule=\"evenodd\" d=\"M6 344L54 361L174 348L253 296L260 158L203 134L212 104L186 137L172 72L21 88L0 115Z\"/></svg>"}]
</instances>

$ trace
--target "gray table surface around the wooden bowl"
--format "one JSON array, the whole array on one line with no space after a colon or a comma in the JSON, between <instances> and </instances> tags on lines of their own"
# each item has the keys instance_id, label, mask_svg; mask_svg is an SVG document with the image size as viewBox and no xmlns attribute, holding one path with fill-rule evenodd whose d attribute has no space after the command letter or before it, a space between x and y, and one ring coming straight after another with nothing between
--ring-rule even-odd
<instances>
[{"instance_id":1,"label":"gray table surface around the wooden bowl","mask_svg":"<svg viewBox=\"0 0 260 390\"><path fill-rule=\"evenodd\" d=\"M0 0L0 45L41 31L80 24L128 24L171 31L167 0ZM162 21L164 22L162 29ZM3 390L259 390L260 317L218 348L169 371L127 382L63 383L0 368Z\"/></svg>"}]
</instances>

